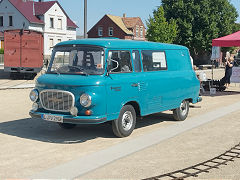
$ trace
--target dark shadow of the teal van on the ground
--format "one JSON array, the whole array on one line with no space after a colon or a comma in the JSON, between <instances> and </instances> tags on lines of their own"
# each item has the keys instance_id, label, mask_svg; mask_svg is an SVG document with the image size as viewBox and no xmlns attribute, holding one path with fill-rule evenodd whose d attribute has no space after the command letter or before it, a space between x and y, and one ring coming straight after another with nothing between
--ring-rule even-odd
<instances>
[{"instance_id":1,"label":"dark shadow of the teal van on the ground","mask_svg":"<svg viewBox=\"0 0 240 180\"><path fill-rule=\"evenodd\" d=\"M137 120L137 128L151 126L163 121L174 121L171 115L158 113ZM41 119L20 119L0 123L0 133L57 144L83 143L99 137L116 138L110 123L98 125L78 125L71 130L61 129L57 123Z\"/></svg>"}]
</instances>

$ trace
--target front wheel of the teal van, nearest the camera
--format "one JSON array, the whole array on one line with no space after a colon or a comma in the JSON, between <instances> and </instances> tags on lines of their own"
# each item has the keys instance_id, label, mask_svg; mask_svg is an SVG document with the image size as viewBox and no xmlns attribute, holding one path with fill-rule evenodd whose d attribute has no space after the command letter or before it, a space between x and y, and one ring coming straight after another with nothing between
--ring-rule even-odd
<instances>
[{"instance_id":1,"label":"front wheel of the teal van, nearest the camera","mask_svg":"<svg viewBox=\"0 0 240 180\"><path fill-rule=\"evenodd\" d=\"M136 125L136 112L131 105L122 107L118 119L112 121L112 130L117 137L129 136Z\"/></svg>"}]
</instances>

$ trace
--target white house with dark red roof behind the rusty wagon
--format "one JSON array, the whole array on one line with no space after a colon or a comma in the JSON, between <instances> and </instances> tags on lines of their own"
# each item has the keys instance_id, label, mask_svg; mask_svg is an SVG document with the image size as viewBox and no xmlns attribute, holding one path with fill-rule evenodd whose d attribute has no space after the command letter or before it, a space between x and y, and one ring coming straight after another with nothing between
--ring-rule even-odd
<instances>
[{"instance_id":1,"label":"white house with dark red roof behind the rusty wagon","mask_svg":"<svg viewBox=\"0 0 240 180\"><path fill-rule=\"evenodd\" d=\"M44 55L52 47L76 39L78 26L68 17L58 1L0 0L0 31L30 29L43 33Z\"/></svg>"}]
</instances>

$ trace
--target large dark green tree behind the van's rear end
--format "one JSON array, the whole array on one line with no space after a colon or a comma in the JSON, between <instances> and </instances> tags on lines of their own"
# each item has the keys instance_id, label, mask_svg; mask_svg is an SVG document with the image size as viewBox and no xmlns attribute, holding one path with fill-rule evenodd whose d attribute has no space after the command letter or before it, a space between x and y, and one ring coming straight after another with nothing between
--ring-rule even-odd
<instances>
[{"instance_id":1,"label":"large dark green tree behind the van's rear end","mask_svg":"<svg viewBox=\"0 0 240 180\"><path fill-rule=\"evenodd\" d=\"M195 59L210 54L212 39L236 30L238 14L229 0L162 0L162 6L166 21L178 26L174 43L187 46Z\"/></svg>"}]
</instances>

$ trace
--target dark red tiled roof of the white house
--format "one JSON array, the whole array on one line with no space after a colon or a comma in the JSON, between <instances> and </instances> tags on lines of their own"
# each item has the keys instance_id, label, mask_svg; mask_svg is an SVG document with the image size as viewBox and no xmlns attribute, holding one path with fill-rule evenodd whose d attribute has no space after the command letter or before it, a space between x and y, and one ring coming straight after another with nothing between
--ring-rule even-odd
<instances>
[{"instance_id":1,"label":"dark red tiled roof of the white house","mask_svg":"<svg viewBox=\"0 0 240 180\"><path fill-rule=\"evenodd\" d=\"M55 3L58 3L58 1L46 1L46 2L34 2L34 1L23 2L22 0L9 0L9 1L12 3L12 5L16 9L18 9L18 11L28 21L30 21L31 23L39 23L39 24L44 24L44 22L38 19L35 15L45 14ZM59 3L58 5L67 17L67 26L78 28L78 26L68 17L67 13L64 11L62 6ZM34 7L34 11L33 11L33 7ZM33 15L33 12L35 13L35 15Z\"/></svg>"}]
</instances>

